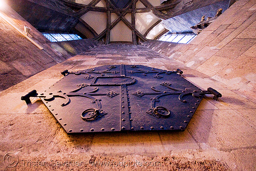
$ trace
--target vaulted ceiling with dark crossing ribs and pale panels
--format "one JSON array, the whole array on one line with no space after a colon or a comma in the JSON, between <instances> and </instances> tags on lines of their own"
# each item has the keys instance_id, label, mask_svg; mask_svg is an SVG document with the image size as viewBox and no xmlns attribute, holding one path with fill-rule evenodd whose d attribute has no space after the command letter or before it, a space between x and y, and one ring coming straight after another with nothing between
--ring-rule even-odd
<instances>
[{"instance_id":1,"label":"vaulted ceiling with dark crossing ribs and pale panels","mask_svg":"<svg viewBox=\"0 0 256 171\"><path fill-rule=\"evenodd\" d=\"M79 32L84 38L113 41L157 39L168 19L223 0L9 0L39 31Z\"/></svg>"}]
</instances>

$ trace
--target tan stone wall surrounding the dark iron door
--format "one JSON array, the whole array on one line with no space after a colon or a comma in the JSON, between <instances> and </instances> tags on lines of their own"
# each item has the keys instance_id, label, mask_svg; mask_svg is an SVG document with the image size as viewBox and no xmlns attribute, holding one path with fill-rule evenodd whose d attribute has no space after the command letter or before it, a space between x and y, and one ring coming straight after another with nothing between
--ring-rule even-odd
<instances>
[{"instance_id":1,"label":"tan stone wall surrounding the dark iron door","mask_svg":"<svg viewBox=\"0 0 256 171\"><path fill-rule=\"evenodd\" d=\"M212 87L223 97L215 101L212 95L205 96L184 132L76 135L68 135L38 98L31 105L20 100L33 89L40 92L51 86L63 70L121 63L180 68L185 79L201 89ZM7 153L18 156L16 170L256 169L256 104L225 84L143 46L100 45L0 92L0 101L0 170L13 170L1 160Z\"/></svg>"}]
</instances>

